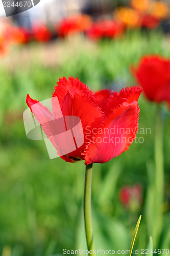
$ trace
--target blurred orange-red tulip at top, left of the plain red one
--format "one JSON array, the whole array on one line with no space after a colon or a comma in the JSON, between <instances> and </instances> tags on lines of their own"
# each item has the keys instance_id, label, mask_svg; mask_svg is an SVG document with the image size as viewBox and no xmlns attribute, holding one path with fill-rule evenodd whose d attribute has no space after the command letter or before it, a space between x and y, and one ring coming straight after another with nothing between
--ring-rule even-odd
<instances>
[{"instance_id":1,"label":"blurred orange-red tulip at top, left of the plain red one","mask_svg":"<svg viewBox=\"0 0 170 256\"><path fill-rule=\"evenodd\" d=\"M92 25L90 16L83 14L63 19L57 25L57 34L59 36L67 36L88 30Z\"/></svg>"}]
</instances>

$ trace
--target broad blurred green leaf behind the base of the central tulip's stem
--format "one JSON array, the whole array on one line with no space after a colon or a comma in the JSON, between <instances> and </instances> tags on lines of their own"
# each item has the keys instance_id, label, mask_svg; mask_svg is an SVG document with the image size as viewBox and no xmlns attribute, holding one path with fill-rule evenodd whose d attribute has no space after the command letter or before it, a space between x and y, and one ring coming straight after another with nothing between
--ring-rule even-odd
<instances>
[{"instance_id":1,"label":"broad blurred green leaf behind the base of the central tulip's stem","mask_svg":"<svg viewBox=\"0 0 170 256\"><path fill-rule=\"evenodd\" d=\"M103 250L128 250L129 236L126 226L115 217L108 217L92 207L92 226L95 248ZM85 249L86 238L83 211L78 219L76 249ZM98 253L99 254L99 253Z\"/></svg>"}]
</instances>

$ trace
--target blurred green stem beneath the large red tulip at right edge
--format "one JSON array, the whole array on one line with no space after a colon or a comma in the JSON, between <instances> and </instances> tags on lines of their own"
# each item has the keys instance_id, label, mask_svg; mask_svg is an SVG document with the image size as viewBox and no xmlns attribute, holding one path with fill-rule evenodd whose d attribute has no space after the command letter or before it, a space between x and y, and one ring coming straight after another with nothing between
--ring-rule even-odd
<instances>
[{"instance_id":1,"label":"blurred green stem beneath the large red tulip at right edge","mask_svg":"<svg viewBox=\"0 0 170 256\"><path fill-rule=\"evenodd\" d=\"M163 163L163 120L158 106L155 122L155 218L154 241L156 245L162 229L162 204L164 198L164 163Z\"/></svg>"}]
</instances>

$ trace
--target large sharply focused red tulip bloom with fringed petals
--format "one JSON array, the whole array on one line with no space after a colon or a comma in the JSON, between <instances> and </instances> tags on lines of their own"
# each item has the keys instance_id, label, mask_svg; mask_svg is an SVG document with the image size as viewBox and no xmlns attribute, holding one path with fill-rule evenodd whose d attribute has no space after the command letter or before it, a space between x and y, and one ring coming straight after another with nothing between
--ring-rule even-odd
<instances>
[{"instance_id":1,"label":"large sharply focused red tulip bloom with fringed petals","mask_svg":"<svg viewBox=\"0 0 170 256\"><path fill-rule=\"evenodd\" d=\"M74 152L61 156L67 162L85 160L85 164L105 163L128 150L138 130L139 87L123 89L119 93L110 90L91 92L78 78L63 77L57 83L53 97L58 97L63 116L78 116L81 119L84 144ZM27 95L26 100L36 119L46 122L46 116L53 114L42 104L38 111L32 110L37 103ZM56 117L56 116L55 116ZM41 125L42 130L56 147L50 125ZM128 131L128 132L127 132Z\"/></svg>"}]
</instances>

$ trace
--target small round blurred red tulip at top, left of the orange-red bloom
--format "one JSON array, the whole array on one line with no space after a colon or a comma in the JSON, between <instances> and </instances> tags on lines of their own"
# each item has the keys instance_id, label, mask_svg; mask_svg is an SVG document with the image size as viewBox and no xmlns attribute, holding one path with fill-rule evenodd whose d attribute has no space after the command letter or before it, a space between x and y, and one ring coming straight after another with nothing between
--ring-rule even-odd
<instances>
[{"instance_id":1,"label":"small round blurred red tulip at top, left of the orange-red bloom","mask_svg":"<svg viewBox=\"0 0 170 256\"><path fill-rule=\"evenodd\" d=\"M47 42L52 38L51 31L45 25L35 25L32 29L32 35L39 42Z\"/></svg>"}]
</instances>

